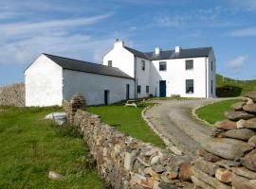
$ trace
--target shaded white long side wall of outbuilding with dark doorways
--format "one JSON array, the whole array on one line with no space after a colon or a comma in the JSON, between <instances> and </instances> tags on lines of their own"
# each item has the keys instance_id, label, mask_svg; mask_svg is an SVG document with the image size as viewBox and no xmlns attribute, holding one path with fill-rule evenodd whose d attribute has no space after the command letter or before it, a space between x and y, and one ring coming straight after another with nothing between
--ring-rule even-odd
<instances>
[{"instance_id":1,"label":"shaded white long side wall of outbuilding with dark doorways","mask_svg":"<svg viewBox=\"0 0 256 189\"><path fill-rule=\"evenodd\" d=\"M134 80L64 69L64 99L80 93L87 105L104 104L104 90L109 90L109 103L126 99L126 84L130 84L130 98L135 97Z\"/></svg>"}]
</instances>

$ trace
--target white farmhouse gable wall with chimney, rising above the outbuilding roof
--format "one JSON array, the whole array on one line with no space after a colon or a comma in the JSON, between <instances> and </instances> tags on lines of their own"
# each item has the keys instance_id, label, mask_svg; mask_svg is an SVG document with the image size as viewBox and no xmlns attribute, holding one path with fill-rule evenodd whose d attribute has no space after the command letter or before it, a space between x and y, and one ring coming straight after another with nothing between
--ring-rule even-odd
<instances>
[{"instance_id":1,"label":"white farmhouse gable wall with chimney, rising above the outbuilding roof","mask_svg":"<svg viewBox=\"0 0 256 189\"><path fill-rule=\"evenodd\" d=\"M135 77L135 58L134 54L123 47L119 41L114 44L114 48L103 58L103 65L108 65L108 60L112 60L112 67L117 67L130 77Z\"/></svg>"}]
</instances>

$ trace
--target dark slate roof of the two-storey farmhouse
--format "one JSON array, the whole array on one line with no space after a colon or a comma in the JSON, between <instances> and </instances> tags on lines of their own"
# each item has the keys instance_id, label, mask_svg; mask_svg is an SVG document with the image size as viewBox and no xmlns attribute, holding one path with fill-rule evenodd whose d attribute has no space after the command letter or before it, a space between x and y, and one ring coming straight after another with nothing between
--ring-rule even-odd
<instances>
[{"instance_id":1,"label":"dark slate roof of the two-storey farmhouse","mask_svg":"<svg viewBox=\"0 0 256 189\"><path fill-rule=\"evenodd\" d=\"M155 52L142 53L133 48L125 46L128 51L133 53L135 56L147 60L171 60L171 59L186 59L186 58L198 58L198 57L209 57L212 47L201 47L201 48L188 48L181 49L179 53L175 53L174 50L160 51L158 56Z\"/></svg>"}]
</instances>

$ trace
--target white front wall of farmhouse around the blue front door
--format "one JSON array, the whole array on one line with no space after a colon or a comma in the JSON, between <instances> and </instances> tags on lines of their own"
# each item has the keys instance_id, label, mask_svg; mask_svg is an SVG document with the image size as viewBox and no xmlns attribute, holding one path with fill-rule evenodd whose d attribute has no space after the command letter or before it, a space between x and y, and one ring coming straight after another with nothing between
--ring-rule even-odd
<instances>
[{"instance_id":1,"label":"white front wall of farmhouse around the blue front door","mask_svg":"<svg viewBox=\"0 0 256 189\"><path fill-rule=\"evenodd\" d=\"M166 80L166 95L206 97L206 59L153 60L151 67L151 93L159 96L159 80ZM186 70L186 61L193 60L193 69ZM159 61L167 61L167 71L159 71ZM194 93L186 94L186 79L193 79Z\"/></svg>"}]
</instances>

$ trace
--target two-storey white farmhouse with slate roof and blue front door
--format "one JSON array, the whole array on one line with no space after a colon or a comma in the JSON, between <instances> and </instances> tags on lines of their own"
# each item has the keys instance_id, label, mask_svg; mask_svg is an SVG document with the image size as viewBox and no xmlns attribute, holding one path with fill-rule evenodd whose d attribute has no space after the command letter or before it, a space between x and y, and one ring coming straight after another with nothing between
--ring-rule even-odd
<instances>
[{"instance_id":1,"label":"two-storey white farmhouse with slate roof and blue front door","mask_svg":"<svg viewBox=\"0 0 256 189\"><path fill-rule=\"evenodd\" d=\"M136 97L215 97L215 57L211 47L143 53L117 40L103 64L135 78Z\"/></svg>"}]
</instances>

